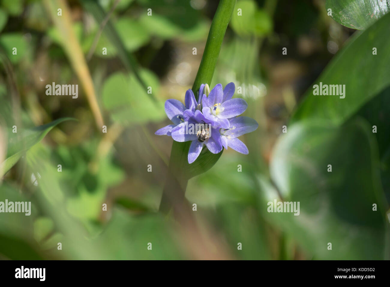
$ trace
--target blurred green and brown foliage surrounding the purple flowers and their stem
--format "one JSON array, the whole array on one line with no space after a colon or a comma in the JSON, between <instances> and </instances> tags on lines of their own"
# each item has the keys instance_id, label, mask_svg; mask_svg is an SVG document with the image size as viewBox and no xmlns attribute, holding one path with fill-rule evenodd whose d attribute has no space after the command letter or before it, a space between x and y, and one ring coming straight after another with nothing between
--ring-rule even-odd
<instances>
[{"instance_id":1,"label":"blurred green and brown foliage surrounding the purple flowers and their stem","mask_svg":"<svg viewBox=\"0 0 390 287\"><path fill-rule=\"evenodd\" d=\"M357 7L373 24L355 32L333 2L237 1L211 86L234 82L259 128L249 155L225 150L188 182L197 211L177 219L158 213L172 139L154 132L193 84L218 1L0 1L0 201L32 202L0 214L0 258L389 259L390 19ZM318 77L346 98L309 96ZM46 95L52 82L78 98ZM268 213L274 199L300 216Z\"/></svg>"}]
</instances>

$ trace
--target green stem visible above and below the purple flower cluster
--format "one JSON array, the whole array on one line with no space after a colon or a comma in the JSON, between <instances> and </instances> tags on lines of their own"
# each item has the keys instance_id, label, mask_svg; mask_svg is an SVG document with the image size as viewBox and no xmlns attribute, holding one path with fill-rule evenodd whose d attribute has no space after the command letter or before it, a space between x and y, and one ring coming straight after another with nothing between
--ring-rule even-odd
<instances>
[{"instance_id":1,"label":"green stem visible above and below the purple flower cluster","mask_svg":"<svg viewBox=\"0 0 390 287\"><path fill-rule=\"evenodd\" d=\"M236 0L220 0L218 4L213 22L211 23L209 36L207 37L202 61L200 61L199 70L192 87L196 98L198 98L197 91L201 84L211 84L223 37L235 5ZM160 203L160 212L164 214L167 214L172 206L174 210L180 209L185 202L184 194L189 177L184 174L184 170L188 165L190 144L190 141L184 143L174 141L172 144L167 178Z\"/></svg>"}]
</instances>

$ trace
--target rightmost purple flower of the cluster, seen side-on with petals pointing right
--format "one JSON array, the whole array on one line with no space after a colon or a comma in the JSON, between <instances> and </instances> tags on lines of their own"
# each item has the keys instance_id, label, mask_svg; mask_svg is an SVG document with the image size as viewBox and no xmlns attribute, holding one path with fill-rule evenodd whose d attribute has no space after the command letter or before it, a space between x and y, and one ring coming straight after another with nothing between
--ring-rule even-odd
<instances>
[{"instance_id":1,"label":"rightmost purple flower of the cluster, seen side-on with petals pointing right","mask_svg":"<svg viewBox=\"0 0 390 287\"><path fill-rule=\"evenodd\" d=\"M229 122L230 128L220 129L223 147L227 149L230 146L233 150L247 155L249 153L248 148L237 137L253 132L259 127L259 124L254 119L248 117L232 118L229 119Z\"/></svg>"}]
</instances>

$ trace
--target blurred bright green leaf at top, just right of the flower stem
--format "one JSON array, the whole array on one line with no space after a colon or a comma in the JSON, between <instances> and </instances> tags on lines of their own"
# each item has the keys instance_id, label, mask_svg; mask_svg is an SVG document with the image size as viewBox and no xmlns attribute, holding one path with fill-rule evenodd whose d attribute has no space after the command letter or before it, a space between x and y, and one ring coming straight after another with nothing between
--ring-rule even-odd
<instances>
[{"instance_id":1,"label":"blurred bright green leaf at top, just right of the flower stem","mask_svg":"<svg viewBox=\"0 0 390 287\"><path fill-rule=\"evenodd\" d=\"M238 10L241 9L241 10ZM257 8L253 0L238 0L230 22L240 36L264 36L271 32L272 21L269 15Z\"/></svg>"}]
</instances>

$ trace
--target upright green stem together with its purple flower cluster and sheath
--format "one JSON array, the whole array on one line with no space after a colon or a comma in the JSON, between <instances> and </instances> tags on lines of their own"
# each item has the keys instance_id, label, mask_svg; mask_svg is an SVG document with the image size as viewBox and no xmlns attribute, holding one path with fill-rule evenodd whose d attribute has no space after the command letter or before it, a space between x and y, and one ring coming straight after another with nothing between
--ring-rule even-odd
<instances>
[{"instance_id":1,"label":"upright green stem together with its purple flower cluster and sheath","mask_svg":"<svg viewBox=\"0 0 390 287\"><path fill-rule=\"evenodd\" d=\"M229 130L225 130L230 128L230 118L245 111L246 103L244 104L241 99L234 99L234 101L238 100L239 102L229 102L234 94L233 83L227 84L223 91L221 84L213 89L213 93L209 89L235 5L236 0L221 0L219 2L211 23L202 61L192 89L186 92L184 105L177 100L165 102L165 112L173 125L161 128L156 134L170 135L174 141L160 203L159 210L162 213L167 214L172 207L174 210L181 209L188 180L212 168L220 158L223 147L234 147L241 152L247 152L247 149L243 149L242 146L239 148L236 139L238 135L229 134ZM194 91L196 92L194 93ZM207 125L207 130L200 130L201 141L199 141L199 134L187 137L182 134L183 126L185 127L186 123L187 125L189 123ZM225 132L228 133L225 134ZM206 137L204 141L202 141L203 137ZM234 140L230 141L229 144L230 139ZM207 149L203 148L204 145Z\"/></svg>"}]
</instances>

